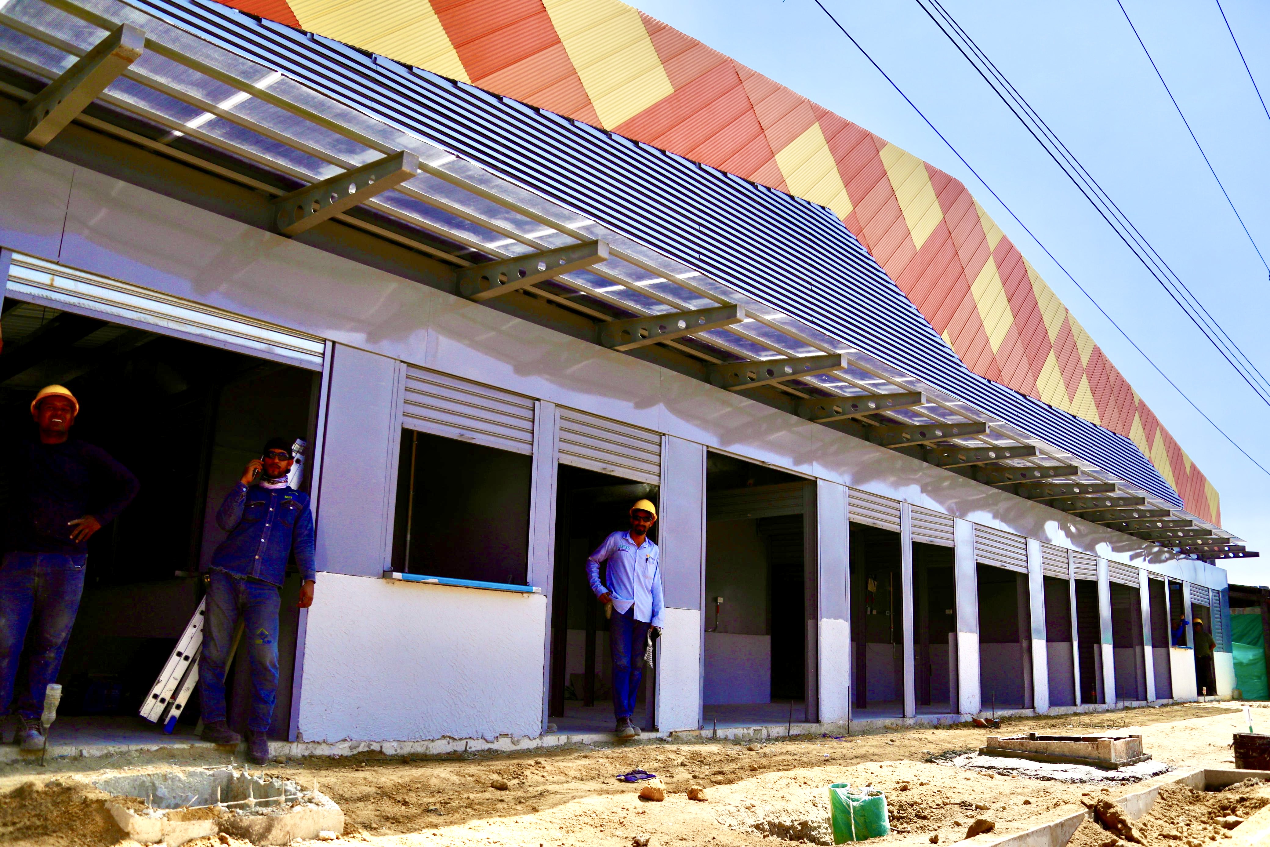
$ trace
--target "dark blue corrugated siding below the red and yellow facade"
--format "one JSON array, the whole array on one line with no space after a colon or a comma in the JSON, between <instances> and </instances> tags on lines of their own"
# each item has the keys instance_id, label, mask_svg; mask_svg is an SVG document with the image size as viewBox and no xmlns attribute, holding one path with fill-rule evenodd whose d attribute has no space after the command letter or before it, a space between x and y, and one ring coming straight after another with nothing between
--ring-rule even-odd
<instances>
[{"instance_id":1,"label":"dark blue corrugated siding below the red and yellow facade","mask_svg":"<svg viewBox=\"0 0 1270 847\"><path fill-rule=\"evenodd\" d=\"M131 0L187 32L578 210L1138 485L1128 438L973 373L826 208L682 156L204 0Z\"/></svg>"}]
</instances>

